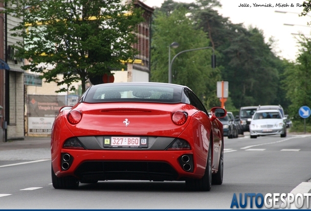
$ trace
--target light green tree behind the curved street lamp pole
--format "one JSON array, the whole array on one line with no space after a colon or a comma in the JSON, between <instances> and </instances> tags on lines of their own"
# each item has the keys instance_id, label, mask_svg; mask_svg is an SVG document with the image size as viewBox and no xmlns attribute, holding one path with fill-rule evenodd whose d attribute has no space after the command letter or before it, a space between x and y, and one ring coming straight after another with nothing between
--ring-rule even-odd
<instances>
[{"instance_id":1,"label":"light green tree behind the curved street lamp pole","mask_svg":"<svg viewBox=\"0 0 311 211\"><path fill-rule=\"evenodd\" d=\"M206 34L195 29L186 14L184 8L174 10L169 16L158 10L155 12L151 60L151 80L154 82L168 81L168 46L172 42L178 42L179 46L171 48L171 59L178 52L208 46ZM211 67L212 52L212 49L184 52L172 63L172 83L188 86L208 107L218 100L216 84L220 80L219 70Z\"/></svg>"}]
</instances>

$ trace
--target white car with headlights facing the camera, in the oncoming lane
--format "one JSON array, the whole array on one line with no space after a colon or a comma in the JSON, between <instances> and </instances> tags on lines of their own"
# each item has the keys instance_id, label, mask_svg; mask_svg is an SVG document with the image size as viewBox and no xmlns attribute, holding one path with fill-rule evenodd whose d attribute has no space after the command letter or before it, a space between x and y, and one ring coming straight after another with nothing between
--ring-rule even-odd
<instances>
[{"instance_id":1,"label":"white car with headlights facing the camera, in the oncoming lane","mask_svg":"<svg viewBox=\"0 0 311 211\"><path fill-rule=\"evenodd\" d=\"M257 110L249 125L250 138L264 135L286 137L284 117L278 109Z\"/></svg>"}]
</instances>

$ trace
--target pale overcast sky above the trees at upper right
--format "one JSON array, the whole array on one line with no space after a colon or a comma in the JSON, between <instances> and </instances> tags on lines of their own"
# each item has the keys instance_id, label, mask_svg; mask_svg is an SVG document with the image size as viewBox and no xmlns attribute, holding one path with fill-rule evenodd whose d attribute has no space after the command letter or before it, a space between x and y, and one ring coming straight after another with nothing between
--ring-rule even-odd
<instances>
[{"instance_id":1,"label":"pale overcast sky above the trees at upper right","mask_svg":"<svg viewBox=\"0 0 311 211\"><path fill-rule=\"evenodd\" d=\"M164 0L141 0L151 7L160 7ZM175 0L178 2L195 2L195 0ZM303 0L219 0L221 8L215 7L223 17L233 23L243 23L245 28L257 27L263 31L265 41L273 38L275 43L272 50L277 56L295 61L298 54L297 39L294 34L310 36L311 13L299 17L303 11ZM280 3L280 5L278 5ZM266 5L266 6L255 6ZM297 5L299 4L299 5ZM243 5L243 6L241 6ZM248 6L247 6L248 5ZM282 11L286 13L279 13ZM290 24L290 25L284 25Z\"/></svg>"}]
</instances>

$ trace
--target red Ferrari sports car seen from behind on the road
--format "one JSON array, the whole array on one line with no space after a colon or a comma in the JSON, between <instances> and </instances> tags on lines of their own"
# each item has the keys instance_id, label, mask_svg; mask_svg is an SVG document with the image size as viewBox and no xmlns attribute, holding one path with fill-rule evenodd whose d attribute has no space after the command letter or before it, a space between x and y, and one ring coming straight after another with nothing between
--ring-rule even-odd
<instances>
[{"instance_id":1,"label":"red Ferrari sports car seen from behind on the road","mask_svg":"<svg viewBox=\"0 0 311 211\"><path fill-rule=\"evenodd\" d=\"M51 134L56 189L104 180L185 181L190 190L222 184L223 128L188 87L110 83L89 87L60 109Z\"/></svg>"}]
</instances>

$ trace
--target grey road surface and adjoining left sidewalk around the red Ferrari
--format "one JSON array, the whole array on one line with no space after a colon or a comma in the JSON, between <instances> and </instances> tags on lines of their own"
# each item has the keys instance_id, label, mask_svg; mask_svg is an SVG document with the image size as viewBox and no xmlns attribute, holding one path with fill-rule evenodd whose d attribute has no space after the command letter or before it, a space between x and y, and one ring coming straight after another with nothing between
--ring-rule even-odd
<instances>
[{"instance_id":1,"label":"grey road surface and adjoining left sidewalk around the red Ferrari","mask_svg":"<svg viewBox=\"0 0 311 211\"><path fill-rule=\"evenodd\" d=\"M187 191L184 182L149 181L56 190L48 138L0 143L0 209L230 209L234 193L311 190L310 134L225 138L224 149L223 184L209 192Z\"/></svg>"}]
</instances>

